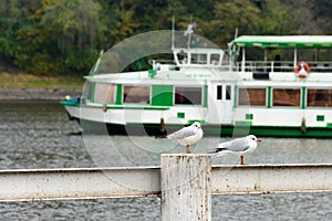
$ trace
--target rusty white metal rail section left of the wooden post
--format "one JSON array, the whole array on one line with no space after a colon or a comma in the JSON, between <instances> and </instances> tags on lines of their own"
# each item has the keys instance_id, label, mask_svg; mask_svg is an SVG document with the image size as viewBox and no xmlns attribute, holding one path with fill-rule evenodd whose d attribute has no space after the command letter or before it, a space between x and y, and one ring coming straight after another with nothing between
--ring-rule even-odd
<instances>
[{"instance_id":1,"label":"rusty white metal rail section left of the wooden post","mask_svg":"<svg viewBox=\"0 0 332 221\"><path fill-rule=\"evenodd\" d=\"M71 168L0 171L0 201L158 196L159 168Z\"/></svg>"}]
</instances>

